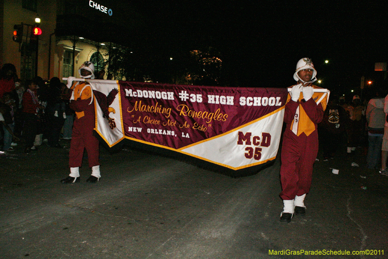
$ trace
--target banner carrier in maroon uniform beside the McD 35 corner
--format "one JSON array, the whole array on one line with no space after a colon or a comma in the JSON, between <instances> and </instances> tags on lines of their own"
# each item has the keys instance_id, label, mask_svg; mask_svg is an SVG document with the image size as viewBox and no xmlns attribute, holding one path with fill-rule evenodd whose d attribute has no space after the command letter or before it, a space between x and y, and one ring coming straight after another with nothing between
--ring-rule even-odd
<instances>
[{"instance_id":1,"label":"banner carrier in maroon uniform beside the McD 35 corner","mask_svg":"<svg viewBox=\"0 0 388 259\"><path fill-rule=\"evenodd\" d=\"M281 151L280 180L283 212L280 221L291 222L296 215L305 215L304 199L310 190L312 166L318 154L317 124L323 119L328 94L314 92L317 71L309 58L302 58L296 65L294 79L285 106Z\"/></svg>"}]
</instances>

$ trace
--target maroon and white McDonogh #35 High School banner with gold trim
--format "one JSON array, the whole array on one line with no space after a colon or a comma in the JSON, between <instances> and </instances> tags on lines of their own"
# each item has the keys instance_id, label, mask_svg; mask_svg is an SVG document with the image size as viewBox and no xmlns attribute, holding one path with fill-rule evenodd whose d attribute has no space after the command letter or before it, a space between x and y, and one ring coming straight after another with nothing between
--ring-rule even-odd
<instances>
[{"instance_id":1,"label":"maroon and white McDonogh #35 High School banner with gold trim","mask_svg":"<svg viewBox=\"0 0 388 259\"><path fill-rule=\"evenodd\" d=\"M87 80L96 131L239 170L275 159L287 88L232 88Z\"/></svg>"}]
</instances>

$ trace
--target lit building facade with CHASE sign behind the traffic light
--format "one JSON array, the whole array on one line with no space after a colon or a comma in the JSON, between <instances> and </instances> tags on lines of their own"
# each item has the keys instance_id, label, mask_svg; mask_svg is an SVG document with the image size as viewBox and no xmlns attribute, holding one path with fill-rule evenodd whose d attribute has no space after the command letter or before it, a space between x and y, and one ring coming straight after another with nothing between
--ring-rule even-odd
<instances>
[{"instance_id":1,"label":"lit building facade with CHASE sign behind the traffic light","mask_svg":"<svg viewBox=\"0 0 388 259\"><path fill-rule=\"evenodd\" d=\"M87 60L96 70L106 69L112 49L129 47L126 35L131 29L121 32L132 27L136 16L122 5L110 0L3 0L0 65L14 64L21 80L77 76ZM23 27L21 42L13 39L15 25ZM35 26L42 34L34 45L31 31Z\"/></svg>"}]
</instances>

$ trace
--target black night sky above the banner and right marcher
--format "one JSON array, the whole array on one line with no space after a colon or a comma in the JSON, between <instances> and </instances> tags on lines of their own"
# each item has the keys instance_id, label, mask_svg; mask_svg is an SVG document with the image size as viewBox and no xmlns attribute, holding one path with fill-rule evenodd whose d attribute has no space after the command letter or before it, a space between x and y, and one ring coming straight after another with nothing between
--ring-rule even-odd
<instances>
[{"instance_id":1,"label":"black night sky above the banner and right marcher","mask_svg":"<svg viewBox=\"0 0 388 259\"><path fill-rule=\"evenodd\" d=\"M302 57L338 94L360 88L361 76L382 84L374 63L388 59L387 3L315 2L143 0L133 7L152 28L145 34L156 38L155 48L171 55L216 48L241 86L290 86Z\"/></svg>"}]
</instances>

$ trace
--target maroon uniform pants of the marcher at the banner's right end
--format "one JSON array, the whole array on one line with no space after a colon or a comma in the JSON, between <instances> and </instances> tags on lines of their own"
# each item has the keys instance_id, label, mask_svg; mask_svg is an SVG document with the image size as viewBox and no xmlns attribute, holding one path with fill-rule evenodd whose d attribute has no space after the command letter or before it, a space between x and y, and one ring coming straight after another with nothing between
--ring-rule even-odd
<instances>
[{"instance_id":1,"label":"maroon uniform pants of the marcher at the banner's right end","mask_svg":"<svg viewBox=\"0 0 388 259\"><path fill-rule=\"evenodd\" d=\"M295 195L308 193L311 186L312 168L318 155L318 131L309 136L296 136L290 129L283 135L280 180L283 200L293 200Z\"/></svg>"}]
</instances>

